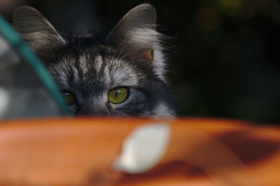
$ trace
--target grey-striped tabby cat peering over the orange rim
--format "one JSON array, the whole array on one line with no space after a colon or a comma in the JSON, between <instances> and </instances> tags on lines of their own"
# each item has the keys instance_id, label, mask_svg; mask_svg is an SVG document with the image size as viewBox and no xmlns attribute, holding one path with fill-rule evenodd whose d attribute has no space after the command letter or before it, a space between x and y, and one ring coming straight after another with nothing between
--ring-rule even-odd
<instances>
[{"instance_id":1,"label":"grey-striped tabby cat peering over the orange rim","mask_svg":"<svg viewBox=\"0 0 280 186\"><path fill-rule=\"evenodd\" d=\"M132 8L109 33L63 34L29 6L13 26L45 63L75 115L174 116L162 35L148 3Z\"/></svg>"}]
</instances>

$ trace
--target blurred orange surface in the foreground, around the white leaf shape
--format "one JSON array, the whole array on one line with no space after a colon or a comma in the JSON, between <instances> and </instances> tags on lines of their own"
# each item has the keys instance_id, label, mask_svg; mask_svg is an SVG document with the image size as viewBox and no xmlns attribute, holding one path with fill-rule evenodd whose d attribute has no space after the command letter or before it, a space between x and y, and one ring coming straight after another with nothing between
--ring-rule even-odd
<instances>
[{"instance_id":1,"label":"blurred orange surface in the foreground, around the white leaf shape","mask_svg":"<svg viewBox=\"0 0 280 186\"><path fill-rule=\"evenodd\" d=\"M160 162L113 171L125 137L158 122L171 126ZM0 185L280 185L280 129L191 118L1 121Z\"/></svg>"}]
</instances>

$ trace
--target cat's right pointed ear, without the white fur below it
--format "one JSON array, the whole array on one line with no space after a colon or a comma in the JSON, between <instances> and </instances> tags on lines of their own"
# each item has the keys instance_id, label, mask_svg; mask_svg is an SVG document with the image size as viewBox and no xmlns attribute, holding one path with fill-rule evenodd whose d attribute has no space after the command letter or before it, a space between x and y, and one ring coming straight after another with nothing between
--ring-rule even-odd
<instances>
[{"instance_id":1,"label":"cat's right pointed ear, without the white fur below it","mask_svg":"<svg viewBox=\"0 0 280 186\"><path fill-rule=\"evenodd\" d=\"M136 6L118 22L106 41L123 49L128 56L153 60L157 42L156 19L156 11L151 4Z\"/></svg>"}]
</instances>

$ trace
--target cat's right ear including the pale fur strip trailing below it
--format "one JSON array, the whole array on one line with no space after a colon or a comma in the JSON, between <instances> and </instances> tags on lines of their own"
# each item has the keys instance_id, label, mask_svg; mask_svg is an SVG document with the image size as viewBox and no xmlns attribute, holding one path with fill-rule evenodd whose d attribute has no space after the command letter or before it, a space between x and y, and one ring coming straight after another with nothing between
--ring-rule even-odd
<instances>
[{"instance_id":1,"label":"cat's right ear including the pale fur strip trailing below it","mask_svg":"<svg viewBox=\"0 0 280 186\"><path fill-rule=\"evenodd\" d=\"M165 55L160 45L162 36L155 30L156 20L156 11L151 4L136 6L113 28L106 42L115 45L118 52L123 50L124 57L150 62L158 78L166 81Z\"/></svg>"}]
</instances>

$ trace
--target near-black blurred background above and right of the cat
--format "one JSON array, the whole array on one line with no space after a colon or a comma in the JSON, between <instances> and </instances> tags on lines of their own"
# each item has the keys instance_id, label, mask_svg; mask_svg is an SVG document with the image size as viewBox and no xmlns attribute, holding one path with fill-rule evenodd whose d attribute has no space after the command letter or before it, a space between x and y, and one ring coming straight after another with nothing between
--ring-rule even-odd
<instances>
[{"instance_id":1,"label":"near-black blurred background above and right of the cat","mask_svg":"<svg viewBox=\"0 0 280 186\"><path fill-rule=\"evenodd\" d=\"M279 1L6 1L0 10L8 20L25 4L57 29L80 33L113 27L130 8L152 3L159 31L172 37L169 77L179 115L280 123Z\"/></svg>"}]
</instances>

